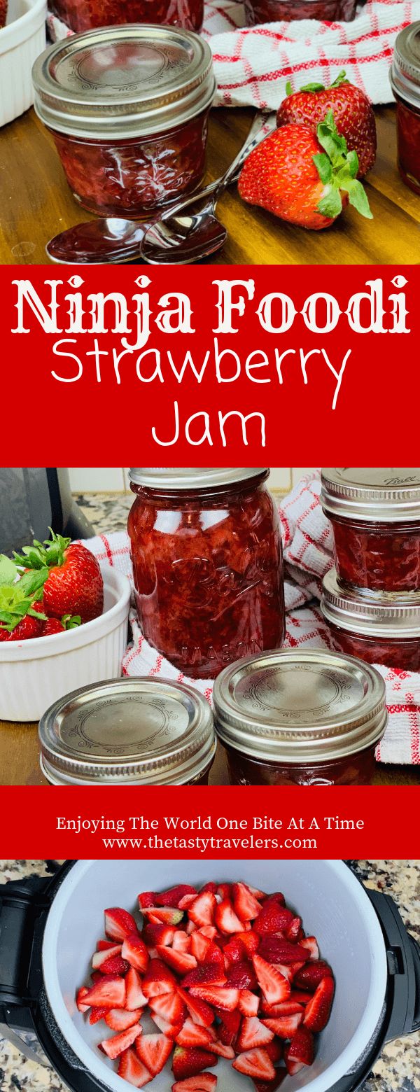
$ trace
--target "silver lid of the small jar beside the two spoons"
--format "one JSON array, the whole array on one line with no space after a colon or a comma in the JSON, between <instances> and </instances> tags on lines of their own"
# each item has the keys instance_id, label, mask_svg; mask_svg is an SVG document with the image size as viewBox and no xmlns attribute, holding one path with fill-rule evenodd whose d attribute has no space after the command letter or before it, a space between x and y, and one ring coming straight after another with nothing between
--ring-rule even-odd
<instances>
[{"instance_id":1,"label":"silver lid of the small jar beside the two spoons","mask_svg":"<svg viewBox=\"0 0 420 1092\"><path fill-rule=\"evenodd\" d=\"M178 127L211 106L212 50L192 31L104 26L57 41L35 61L35 110L51 129L122 140Z\"/></svg>"}]
</instances>

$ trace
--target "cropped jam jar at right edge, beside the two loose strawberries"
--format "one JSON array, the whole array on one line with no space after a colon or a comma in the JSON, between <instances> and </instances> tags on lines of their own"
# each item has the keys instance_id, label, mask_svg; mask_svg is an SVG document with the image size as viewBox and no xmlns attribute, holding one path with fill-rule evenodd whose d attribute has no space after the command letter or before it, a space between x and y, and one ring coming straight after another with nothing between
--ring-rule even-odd
<instances>
[{"instance_id":1,"label":"cropped jam jar at right edge, beside the two loose strawberries","mask_svg":"<svg viewBox=\"0 0 420 1092\"><path fill-rule=\"evenodd\" d=\"M420 193L420 22L397 35L389 76L397 104L398 170Z\"/></svg>"}]
</instances>

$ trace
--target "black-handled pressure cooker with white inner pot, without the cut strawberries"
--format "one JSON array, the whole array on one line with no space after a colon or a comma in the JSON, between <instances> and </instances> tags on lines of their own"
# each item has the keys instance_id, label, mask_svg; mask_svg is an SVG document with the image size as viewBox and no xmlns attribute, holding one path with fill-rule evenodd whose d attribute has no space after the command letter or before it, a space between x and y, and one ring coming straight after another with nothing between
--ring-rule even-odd
<instances>
[{"instance_id":1,"label":"black-handled pressure cooker with white inner pot, without the cut strawberries","mask_svg":"<svg viewBox=\"0 0 420 1092\"><path fill-rule=\"evenodd\" d=\"M286 1077L284 1092L356 1092L386 1042L420 1026L420 948L393 899L367 890L334 860L79 860L52 879L10 882L0 895L0 1033L32 1057L38 1044L72 1092L127 1092L97 1049L98 1029L76 1009L104 909L134 909L144 888L161 890L188 875L281 889L317 937L334 970L329 1023L313 1066ZM223 1058L218 1092L243 1092L245 1079ZM151 1082L169 1092L169 1065Z\"/></svg>"}]
</instances>

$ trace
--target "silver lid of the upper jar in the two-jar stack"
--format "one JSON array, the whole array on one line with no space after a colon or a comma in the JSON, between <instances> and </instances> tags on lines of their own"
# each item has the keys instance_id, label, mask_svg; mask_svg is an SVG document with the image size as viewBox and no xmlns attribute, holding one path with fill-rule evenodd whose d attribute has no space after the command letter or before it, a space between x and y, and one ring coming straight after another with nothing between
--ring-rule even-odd
<instances>
[{"instance_id":1,"label":"silver lid of the upper jar in the two-jar stack","mask_svg":"<svg viewBox=\"0 0 420 1092\"><path fill-rule=\"evenodd\" d=\"M321 484L327 515L373 523L420 520L420 467L328 466Z\"/></svg>"}]
</instances>

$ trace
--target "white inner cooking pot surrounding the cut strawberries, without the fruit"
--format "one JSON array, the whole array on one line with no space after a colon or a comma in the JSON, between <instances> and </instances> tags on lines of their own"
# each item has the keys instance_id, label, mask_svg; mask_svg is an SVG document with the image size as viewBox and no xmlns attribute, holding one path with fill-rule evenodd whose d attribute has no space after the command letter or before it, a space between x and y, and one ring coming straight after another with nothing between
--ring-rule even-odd
<instances>
[{"instance_id":1,"label":"white inner cooking pot surrounding the cut strawberries, without the fruit","mask_svg":"<svg viewBox=\"0 0 420 1092\"><path fill-rule=\"evenodd\" d=\"M74 1053L105 1088L125 1092L125 1081L97 1044L112 1033L77 1012L75 994L88 981L104 910L120 905L140 922L140 891L163 891L188 881L243 880L283 891L314 934L333 968L336 993L329 1023L316 1043L314 1065L288 1077L281 1092L326 1092L352 1069L370 1042L383 1009L387 966L382 929L364 889L341 860L79 860L65 877L48 915L43 945L45 987L57 1023ZM144 1030L157 1031L143 1020ZM217 1092L248 1092L250 1079L219 1059ZM147 1089L169 1092L170 1063Z\"/></svg>"}]
</instances>

